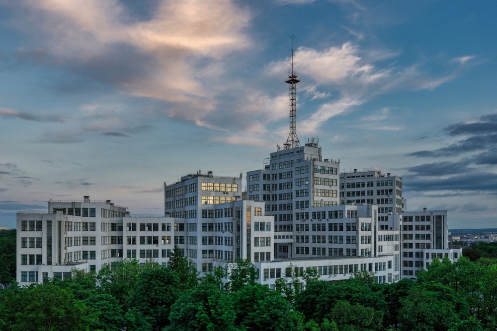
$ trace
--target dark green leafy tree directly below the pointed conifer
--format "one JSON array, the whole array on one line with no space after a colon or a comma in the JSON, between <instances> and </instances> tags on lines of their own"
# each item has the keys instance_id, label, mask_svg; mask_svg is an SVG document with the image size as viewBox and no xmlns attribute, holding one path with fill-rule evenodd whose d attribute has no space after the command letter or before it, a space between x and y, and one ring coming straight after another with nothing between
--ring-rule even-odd
<instances>
[{"instance_id":1,"label":"dark green leafy tree directly below the pointed conifer","mask_svg":"<svg viewBox=\"0 0 497 331\"><path fill-rule=\"evenodd\" d=\"M128 307L135 307L143 316L149 317L153 330L161 330L168 324L171 306L179 296L179 287L178 277L171 268L146 268L137 279Z\"/></svg>"}]
</instances>

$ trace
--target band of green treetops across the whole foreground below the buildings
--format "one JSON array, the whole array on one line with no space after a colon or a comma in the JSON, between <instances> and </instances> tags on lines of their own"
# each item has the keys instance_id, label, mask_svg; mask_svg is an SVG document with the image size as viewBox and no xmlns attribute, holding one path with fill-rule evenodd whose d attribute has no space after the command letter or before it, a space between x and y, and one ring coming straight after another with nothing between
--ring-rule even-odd
<instances>
[{"instance_id":1,"label":"band of green treetops across the whole foreground below the buildings","mask_svg":"<svg viewBox=\"0 0 497 331\"><path fill-rule=\"evenodd\" d=\"M72 278L63 281L29 287L13 283L0 291L0 331L497 327L497 260L492 258L434 260L417 280L392 284L376 284L369 272L327 282L314 269L290 265L291 277L276 279L276 290L256 283L257 270L248 260L234 264L229 276L227 268L217 266L200 284L186 258L176 261L174 270L125 260L105 265L98 274L73 270Z\"/></svg>"}]
</instances>

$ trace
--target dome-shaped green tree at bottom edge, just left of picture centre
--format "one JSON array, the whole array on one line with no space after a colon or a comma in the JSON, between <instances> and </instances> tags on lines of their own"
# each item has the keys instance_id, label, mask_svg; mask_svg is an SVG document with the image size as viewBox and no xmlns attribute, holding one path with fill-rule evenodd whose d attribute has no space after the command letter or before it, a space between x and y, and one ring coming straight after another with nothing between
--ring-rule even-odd
<instances>
[{"instance_id":1,"label":"dome-shaped green tree at bottom edge, just left of picture centre","mask_svg":"<svg viewBox=\"0 0 497 331\"><path fill-rule=\"evenodd\" d=\"M171 307L166 331L234 331L235 310L229 293L213 284L187 290Z\"/></svg>"}]
</instances>

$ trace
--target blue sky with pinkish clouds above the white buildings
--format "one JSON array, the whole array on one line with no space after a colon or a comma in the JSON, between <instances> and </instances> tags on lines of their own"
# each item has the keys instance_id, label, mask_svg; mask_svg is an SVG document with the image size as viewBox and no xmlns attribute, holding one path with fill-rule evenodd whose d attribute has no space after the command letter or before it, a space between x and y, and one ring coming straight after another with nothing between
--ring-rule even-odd
<instances>
[{"instance_id":1,"label":"blue sky with pinkish clouds above the white buildings","mask_svg":"<svg viewBox=\"0 0 497 331\"><path fill-rule=\"evenodd\" d=\"M47 201L163 214L164 183L263 168L296 132L407 210L497 227L497 1L0 0L0 226ZM293 39L291 36L295 36ZM244 184L244 187L246 185Z\"/></svg>"}]
</instances>

